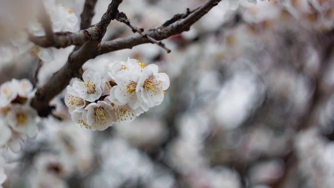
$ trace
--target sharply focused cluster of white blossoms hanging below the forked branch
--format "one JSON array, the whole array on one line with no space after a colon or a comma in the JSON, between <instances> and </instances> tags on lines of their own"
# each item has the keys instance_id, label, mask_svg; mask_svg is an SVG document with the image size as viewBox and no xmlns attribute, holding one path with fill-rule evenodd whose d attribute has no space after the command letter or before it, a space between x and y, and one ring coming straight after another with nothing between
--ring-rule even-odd
<instances>
[{"instance_id":1,"label":"sharply focused cluster of white blossoms hanging below the forked branch","mask_svg":"<svg viewBox=\"0 0 334 188\"><path fill-rule=\"evenodd\" d=\"M104 130L114 122L130 122L150 107L161 104L169 87L166 73L156 64L135 59L116 61L104 74L88 69L83 81L67 86L65 104L72 120L92 130Z\"/></svg>"}]
</instances>

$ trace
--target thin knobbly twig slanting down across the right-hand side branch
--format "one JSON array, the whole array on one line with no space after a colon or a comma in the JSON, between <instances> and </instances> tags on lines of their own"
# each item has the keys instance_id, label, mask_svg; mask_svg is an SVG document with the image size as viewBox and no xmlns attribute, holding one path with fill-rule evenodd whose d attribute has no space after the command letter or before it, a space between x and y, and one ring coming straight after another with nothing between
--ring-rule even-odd
<instances>
[{"instance_id":1,"label":"thin knobbly twig slanting down across the right-hand side branch","mask_svg":"<svg viewBox=\"0 0 334 188\"><path fill-rule=\"evenodd\" d=\"M130 20L126 17L126 15L125 15L124 12L120 12L120 13L118 13L117 16L116 16L116 20L125 23L127 26L129 26L129 27L132 29L132 32L134 32L134 33L136 33L136 32L139 33L139 34L140 34L141 36L143 36L144 38L147 38L147 40L148 40L149 42L155 43L155 44L157 44L158 46L164 48L164 49L167 51L167 53L170 52L170 49L168 49L168 48L166 47L166 45L165 45L163 42L161 42L161 41L157 41L157 40L153 39L152 37L145 35L145 34L144 34L144 29L143 29L143 28L138 28L138 27L136 27L136 26L133 26L133 25L130 23Z\"/></svg>"}]
</instances>

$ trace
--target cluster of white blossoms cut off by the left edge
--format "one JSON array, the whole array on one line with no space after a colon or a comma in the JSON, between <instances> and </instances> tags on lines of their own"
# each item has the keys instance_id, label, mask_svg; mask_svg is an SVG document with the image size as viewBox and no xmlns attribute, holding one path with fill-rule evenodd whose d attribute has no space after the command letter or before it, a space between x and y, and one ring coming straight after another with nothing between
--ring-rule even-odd
<instances>
[{"instance_id":1,"label":"cluster of white blossoms cut off by the left edge","mask_svg":"<svg viewBox=\"0 0 334 188\"><path fill-rule=\"evenodd\" d=\"M38 115L29 105L33 96L33 86L27 79L13 79L0 85L0 185L6 180L3 153L8 147L13 152L20 151L21 141L37 135Z\"/></svg>"}]
</instances>

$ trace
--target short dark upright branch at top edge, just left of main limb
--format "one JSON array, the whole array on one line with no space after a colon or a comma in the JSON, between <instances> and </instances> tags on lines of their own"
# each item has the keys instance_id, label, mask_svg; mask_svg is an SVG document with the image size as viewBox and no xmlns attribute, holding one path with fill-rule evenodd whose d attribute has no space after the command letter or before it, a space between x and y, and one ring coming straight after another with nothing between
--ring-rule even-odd
<instances>
[{"instance_id":1,"label":"short dark upright branch at top edge, just left of main limb","mask_svg":"<svg viewBox=\"0 0 334 188\"><path fill-rule=\"evenodd\" d=\"M94 16L94 8L97 0L85 0L84 10L81 13L80 29L87 29L92 24L92 18Z\"/></svg>"}]
</instances>

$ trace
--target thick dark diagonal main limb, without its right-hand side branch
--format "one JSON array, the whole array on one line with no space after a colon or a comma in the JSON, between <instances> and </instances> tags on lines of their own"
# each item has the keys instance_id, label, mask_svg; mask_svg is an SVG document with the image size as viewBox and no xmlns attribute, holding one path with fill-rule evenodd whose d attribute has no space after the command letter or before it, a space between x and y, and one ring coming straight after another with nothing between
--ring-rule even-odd
<instances>
[{"instance_id":1,"label":"thick dark diagonal main limb, without its right-hand side branch","mask_svg":"<svg viewBox=\"0 0 334 188\"><path fill-rule=\"evenodd\" d=\"M68 57L67 63L58 72L53 74L45 85L37 90L36 96L31 101L31 105L37 109L41 117L46 117L50 114L52 107L49 106L49 101L66 87L71 78L80 70L81 66L87 60L97 56L98 45L110 21L115 19L118 13L118 6L122 1L112 0L101 21L94 26L96 27L96 32L98 32L97 39L85 42L79 50L72 52Z\"/></svg>"}]
</instances>

